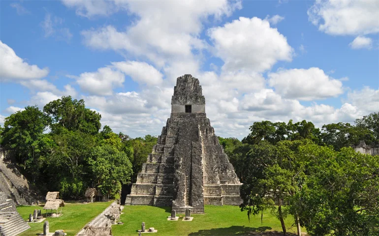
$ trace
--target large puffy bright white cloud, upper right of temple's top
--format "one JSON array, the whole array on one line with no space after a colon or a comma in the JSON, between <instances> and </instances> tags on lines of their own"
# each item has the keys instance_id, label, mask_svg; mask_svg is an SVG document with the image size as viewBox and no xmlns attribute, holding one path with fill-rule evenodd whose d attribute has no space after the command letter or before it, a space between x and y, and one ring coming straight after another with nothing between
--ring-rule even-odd
<instances>
[{"instance_id":1,"label":"large puffy bright white cloud, upper right of temple's top","mask_svg":"<svg viewBox=\"0 0 379 236\"><path fill-rule=\"evenodd\" d=\"M290 61L293 49L278 29L267 20L240 17L232 23L208 30L214 42L215 54L225 64L223 70L239 69L262 72L278 60Z\"/></svg>"}]
</instances>

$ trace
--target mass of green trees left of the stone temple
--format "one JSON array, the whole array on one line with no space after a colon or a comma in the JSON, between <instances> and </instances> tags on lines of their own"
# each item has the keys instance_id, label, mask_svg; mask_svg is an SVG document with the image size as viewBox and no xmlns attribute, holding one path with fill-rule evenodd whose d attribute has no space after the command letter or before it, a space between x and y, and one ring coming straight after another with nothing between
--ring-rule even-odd
<instances>
[{"instance_id":1,"label":"mass of green trees left of the stone temple","mask_svg":"<svg viewBox=\"0 0 379 236\"><path fill-rule=\"evenodd\" d=\"M133 148L107 125L98 132L100 118L83 100L63 96L43 112L26 107L5 118L0 143L44 191L80 198L87 187L96 187L115 197L133 175Z\"/></svg>"}]
</instances>

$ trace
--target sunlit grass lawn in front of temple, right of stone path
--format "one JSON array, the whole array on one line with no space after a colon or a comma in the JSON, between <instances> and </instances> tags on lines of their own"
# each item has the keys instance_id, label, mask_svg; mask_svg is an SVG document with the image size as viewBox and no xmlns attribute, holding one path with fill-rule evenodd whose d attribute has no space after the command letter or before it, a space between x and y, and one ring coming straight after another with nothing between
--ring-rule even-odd
<instances>
[{"instance_id":1,"label":"sunlit grass lawn in front of temple, right of stone path","mask_svg":"<svg viewBox=\"0 0 379 236\"><path fill-rule=\"evenodd\" d=\"M153 236L200 236L200 235L283 235L280 221L270 214L263 213L263 224L260 214L253 216L250 222L247 212L241 212L238 206L205 206L205 214L192 214L193 220L183 222L184 214L179 215L178 221L167 221L171 207L125 206L124 214L120 216L123 225L113 225L113 236L137 236L141 223L145 222L146 229L154 227L158 230ZM294 223L290 215L285 226L290 228ZM305 232L305 229L302 229ZM296 233L296 226L287 230Z\"/></svg>"}]
</instances>

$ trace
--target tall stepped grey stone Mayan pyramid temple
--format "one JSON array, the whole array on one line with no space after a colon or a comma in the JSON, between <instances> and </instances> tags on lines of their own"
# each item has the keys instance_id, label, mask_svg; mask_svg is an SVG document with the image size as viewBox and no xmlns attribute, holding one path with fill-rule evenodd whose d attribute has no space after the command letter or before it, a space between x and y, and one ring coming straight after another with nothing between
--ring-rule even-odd
<instances>
[{"instance_id":1,"label":"tall stepped grey stone Mayan pyramid temple","mask_svg":"<svg viewBox=\"0 0 379 236\"><path fill-rule=\"evenodd\" d=\"M171 116L125 204L204 213L204 204L239 205L240 185L206 117L199 80L191 75L177 78Z\"/></svg>"}]
</instances>

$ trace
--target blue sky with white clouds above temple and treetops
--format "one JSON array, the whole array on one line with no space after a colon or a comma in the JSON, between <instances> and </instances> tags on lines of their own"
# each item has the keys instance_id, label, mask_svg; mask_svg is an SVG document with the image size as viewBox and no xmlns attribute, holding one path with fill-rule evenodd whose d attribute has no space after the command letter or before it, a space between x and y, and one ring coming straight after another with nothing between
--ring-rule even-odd
<instances>
[{"instance_id":1,"label":"blue sky with white clouds above temple and treetops","mask_svg":"<svg viewBox=\"0 0 379 236\"><path fill-rule=\"evenodd\" d=\"M379 2L0 1L0 124L84 99L101 123L158 135L176 78L203 86L217 135L379 111Z\"/></svg>"}]
</instances>

